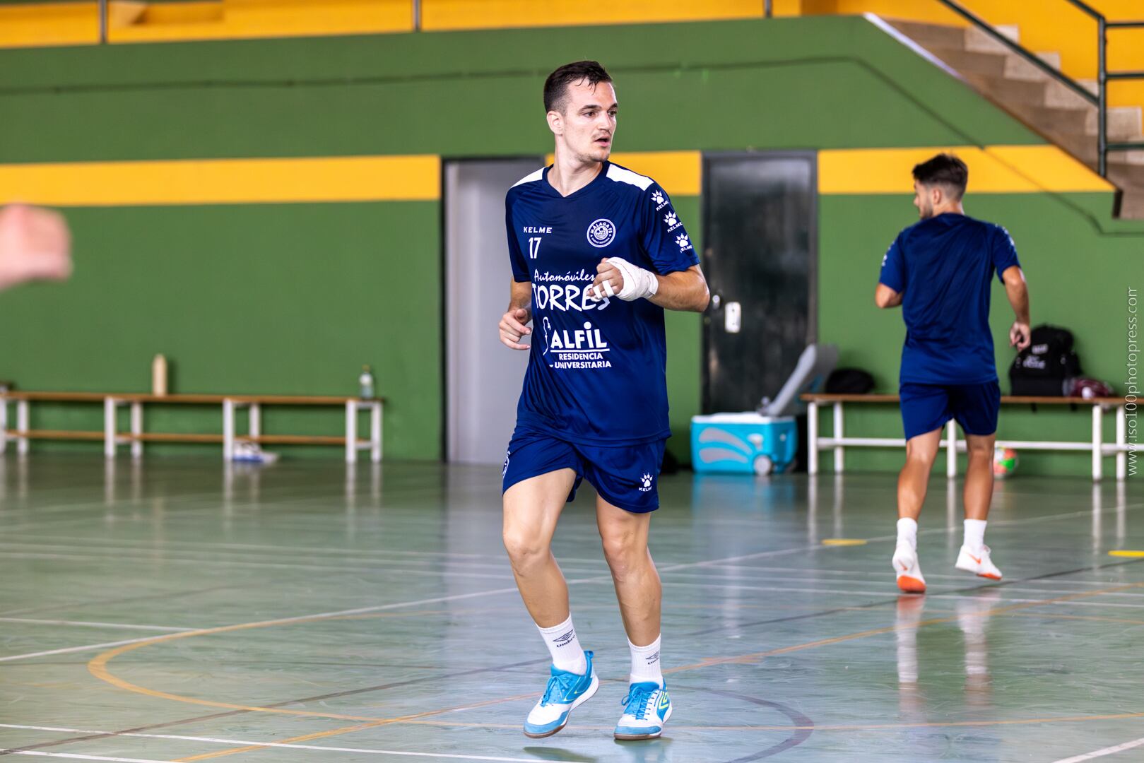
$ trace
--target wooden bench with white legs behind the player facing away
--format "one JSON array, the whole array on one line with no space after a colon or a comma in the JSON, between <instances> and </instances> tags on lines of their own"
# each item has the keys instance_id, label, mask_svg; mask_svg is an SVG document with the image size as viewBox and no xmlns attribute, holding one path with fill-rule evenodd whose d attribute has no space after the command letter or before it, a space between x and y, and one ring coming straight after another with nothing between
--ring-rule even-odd
<instances>
[{"instance_id":1,"label":"wooden bench with white legs behind the player facing away","mask_svg":"<svg viewBox=\"0 0 1144 763\"><path fill-rule=\"evenodd\" d=\"M852 404L898 404L897 395L803 395L807 402L807 470L818 474L818 452L834 451L834 471L842 472L845 466L845 448L848 447L905 447L901 437L847 437L843 428L843 406ZM1117 479L1127 476L1128 451L1131 445L1126 442L1127 427L1125 419L1125 399L1119 397L1026 397L1006 395L1001 397L1002 405L1073 405L1093 408L1093 437L1085 442L1048 442L1048 440L1006 440L999 439L1001 447L1012 447L1027 451L1085 451L1093 456L1093 479L1103 476L1102 460L1106 455L1117 456ZM834 407L834 430L832 437L818 435L818 408L820 405ZM1104 443L1103 415L1109 408L1117 410L1117 442ZM948 477L958 475L958 453L966 452L966 442L958 439L956 423L950 421L945 430L945 474Z\"/></svg>"}]
</instances>

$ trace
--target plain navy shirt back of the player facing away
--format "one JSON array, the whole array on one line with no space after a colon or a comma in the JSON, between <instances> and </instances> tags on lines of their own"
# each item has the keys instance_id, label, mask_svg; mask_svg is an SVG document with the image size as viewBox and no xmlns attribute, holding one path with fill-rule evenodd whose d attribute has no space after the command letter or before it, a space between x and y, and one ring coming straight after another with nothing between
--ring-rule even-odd
<instances>
[{"instance_id":1,"label":"plain navy shirt back of the player facing away","mask_svg":"<svg viewBox=\"0 0 1144 763\"><path fill-rule=\"evenodd\" d=\"M1009 231L967 215L936 215L898 233L879 280L901 293L903 383L996 381L990 284L1019 264Z\"/></svg>"}]
</instances>

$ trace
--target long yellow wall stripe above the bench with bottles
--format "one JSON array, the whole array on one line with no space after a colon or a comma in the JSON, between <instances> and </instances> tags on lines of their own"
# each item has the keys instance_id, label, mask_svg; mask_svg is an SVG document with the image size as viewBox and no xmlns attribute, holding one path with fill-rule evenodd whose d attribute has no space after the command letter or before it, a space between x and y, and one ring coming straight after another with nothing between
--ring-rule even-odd
<instances>
[{"instance_id":1,"label":"long yellow wall stripe above the bench with bottles","mask_svg":"<svg viewBox=\"0 0 1144 763\"><path fill-rule=\"evenodd\" d=\"M56 207L439 198L436 156L0 165L0 199Z\"/></svg>"}]
</instances>

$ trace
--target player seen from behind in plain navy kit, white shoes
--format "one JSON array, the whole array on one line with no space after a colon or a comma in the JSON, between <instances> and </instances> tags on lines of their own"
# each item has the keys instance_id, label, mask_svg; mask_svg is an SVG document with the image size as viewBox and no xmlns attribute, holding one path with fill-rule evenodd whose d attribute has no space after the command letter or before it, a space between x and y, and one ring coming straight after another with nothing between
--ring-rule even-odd
<instances>
[{"instance_id":1,"label":"player seen from behind in plain navy kit, white shoes","mask_svg":"<svg viewBox=\"0 0 1144 763\"><path fill-rule=\"evenodd\" d=\"M1009 344L1028 347L1028 292L1009 232L974 220L961 207L969 181L966 164L939 153L914 167L911 225L882 259L874 301L901 305L906 343L901 350L901 421L906 466L898 476L898 546L893 571L898 588L920 594L925 579L917 564L917 516L930 469L951 419L961 424L969 450L966 472L966 537L956 567L1001 580L985 545L985 520L993 498L993 443L1001 408L990 334L990 284L1004 284L1016 320Z\"/></svg>"}]
</instances>

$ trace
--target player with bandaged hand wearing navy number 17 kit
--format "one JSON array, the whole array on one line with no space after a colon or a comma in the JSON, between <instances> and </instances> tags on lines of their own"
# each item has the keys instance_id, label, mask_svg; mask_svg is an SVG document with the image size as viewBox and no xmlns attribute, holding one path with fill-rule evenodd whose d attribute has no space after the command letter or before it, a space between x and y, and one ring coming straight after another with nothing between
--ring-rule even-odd
<instances>
[{"instance_id":1,"label":"player with bandaged hand wearing navy number 17 kit","mask_svg":"<svg viewBox=\"0 0 1144 763\"><path fill-rule=\"evenodd\" d=\"M617 739L658 737L672 715L660 671L659 574L648 551L667 421L664 309L702 311L707 284L667 193L607 160L615 90L594 61L545 82L556 161L506 198L511 301L500 339L527 350L516 431L505 458L505 548L553 657L524 733L554 734L599 684L580 647L553 532L582 479L631 647Z\"/></svg>"}]
</instances>

